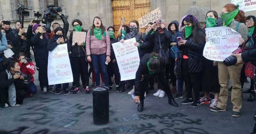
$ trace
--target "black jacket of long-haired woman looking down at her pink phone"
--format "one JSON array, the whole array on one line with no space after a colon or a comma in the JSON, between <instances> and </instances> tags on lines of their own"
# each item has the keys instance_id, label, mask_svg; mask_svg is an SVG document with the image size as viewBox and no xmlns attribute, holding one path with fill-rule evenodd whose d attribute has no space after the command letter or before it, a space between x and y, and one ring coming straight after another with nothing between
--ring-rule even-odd
<instances>
[{"instance_id":1,"label":"black jacket of long-haired woman looking down at her pink phone","mask_svg":"<svg viewBox=\"0 0 256 134\"><path fill-rule=\"evenodd\" d=\"M205 37L203 31L200 32L202 37ZM184 39L183 35L183 39ZM189 58L189 71L190 73L197 73L203 71L204 68L204 45L205 38L202 38L202 43L196 43L193 41L193 34L191 34L187 39L187 42L184 46L179 46L178 48L182 51L183 54L187 55Z\"/></svg>"}]
</instances>

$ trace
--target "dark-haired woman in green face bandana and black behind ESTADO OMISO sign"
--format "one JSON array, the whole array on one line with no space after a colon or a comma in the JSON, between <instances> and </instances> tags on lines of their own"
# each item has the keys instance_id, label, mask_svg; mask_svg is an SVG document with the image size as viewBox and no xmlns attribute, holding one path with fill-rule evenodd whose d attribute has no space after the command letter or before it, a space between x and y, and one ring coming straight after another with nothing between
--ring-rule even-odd
<instances>
[{"instance_id":1,"label":"dark-haired woman in green face bandana and black behind ESTADO OMISO sign","mask_svg":"<svg viewBox=\"0 0 256 134\"><path fill-rule=\"evenodd\" d=\"M206 13L206 28L223 26L218 22L218 13L216 11L208 11ZM204 58L204 71L202 78L202 89L204 97L200 99L201 104L210 104L210 108L217 107L218 97L220 94L220 84L218 78L218 62ZM210 92L214 93L214 99L210 99Z\"/></svg>"}]
</instances>

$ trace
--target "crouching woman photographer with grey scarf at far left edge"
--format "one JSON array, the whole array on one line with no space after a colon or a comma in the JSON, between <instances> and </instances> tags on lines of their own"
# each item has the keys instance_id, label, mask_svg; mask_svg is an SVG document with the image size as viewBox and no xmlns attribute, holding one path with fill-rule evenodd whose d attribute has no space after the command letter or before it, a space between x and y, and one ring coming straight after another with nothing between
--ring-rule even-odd
<instances>
[{"instance_id":1,"label":"crouching woman photographer with grey scarf at far left edge","mask_svg":"<svg viewBox=\"0 0 256 134\"><path fill-rule=\"evenodd\" d=\"M8 98L10 106L17 107L23 103L26 97L24 90L26 87L23 86L24 77L19 73L20 66L17 61L11 59L6 64L6 70L0 75L1 107L9 106Z\"/></svg>"}]
</instances>

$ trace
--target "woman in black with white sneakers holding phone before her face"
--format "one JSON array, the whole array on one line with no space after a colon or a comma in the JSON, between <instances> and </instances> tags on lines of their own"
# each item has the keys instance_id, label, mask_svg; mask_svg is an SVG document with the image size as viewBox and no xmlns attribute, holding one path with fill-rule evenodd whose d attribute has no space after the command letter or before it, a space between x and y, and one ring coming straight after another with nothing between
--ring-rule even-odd
<instances>
[{"instance_id":1,"label":"woman in black with white sneakers holding phone before her face","mask_svg":"<svg viewBox=\"0 0 256 134\"><path fill-rule=\"evenodd\" d=\"M157 28L157 30L154 32L154 28ZM164 59L164 70L166 71L166 69L169 70L169 46L168 43L170 42L170 39L172 38L171 33L169 33L165 27L165 22L163 19L158 19L156 20L156 23L154 23L152 25L151 30L148 32L148 34L146 35L146 40L150 41L150 40L154 40L154 48L153 51L156 53L160 54L160 57L162 56L162 58ZM165 72L165 78L167 81L169 81L168 78L168 72ZM157 81L158 82L158 81ZM156 93L154 93L154 96L158 96L160 98L163 98L165 93L162 90L162 85L158 82L157 83L158 86L158 91Z\"/></svg>"}]
</instances>

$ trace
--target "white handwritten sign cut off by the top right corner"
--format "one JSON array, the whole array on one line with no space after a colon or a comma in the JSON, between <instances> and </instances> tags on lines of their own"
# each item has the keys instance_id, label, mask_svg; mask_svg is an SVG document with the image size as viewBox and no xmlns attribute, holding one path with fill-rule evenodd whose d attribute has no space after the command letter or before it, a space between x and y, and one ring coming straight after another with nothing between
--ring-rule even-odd
<instances>
[{"instance_id":1,"label":"white handwritten sign cut off by the top right corner","mask_svg":"<svg viewBox=\"0 0 256 134\"><path fill-rule=\"evenodd\" d=\"M239 4L239 9L244 12L256 10L256 0L231 0L232 4Z\"/></svg>"}]
</instances>

